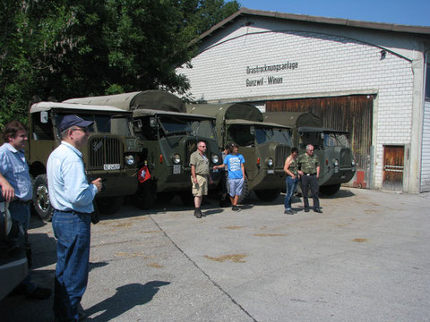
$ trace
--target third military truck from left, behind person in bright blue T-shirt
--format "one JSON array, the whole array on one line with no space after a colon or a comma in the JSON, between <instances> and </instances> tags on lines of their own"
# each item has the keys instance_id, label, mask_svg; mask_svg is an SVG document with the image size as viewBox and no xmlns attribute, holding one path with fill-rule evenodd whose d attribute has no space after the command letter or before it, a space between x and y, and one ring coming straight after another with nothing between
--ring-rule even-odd
<instances>
[{"instance_id":1,"label":"third military truck from left, behind person in bright blue T-shirt","mask_svg":"<svg viewBox=\"0 0 430 322\"><path fill-rule=\"evenodd\" d=\"M247 103L194 104L187 105L186 110L216 117L219 148L230 142L239 145L247 177L240 201L249 191L263 201L278 198L285 188L283 168L292 146L288 126L263 123L260 110Z\"/></svg>"}]
</instances>

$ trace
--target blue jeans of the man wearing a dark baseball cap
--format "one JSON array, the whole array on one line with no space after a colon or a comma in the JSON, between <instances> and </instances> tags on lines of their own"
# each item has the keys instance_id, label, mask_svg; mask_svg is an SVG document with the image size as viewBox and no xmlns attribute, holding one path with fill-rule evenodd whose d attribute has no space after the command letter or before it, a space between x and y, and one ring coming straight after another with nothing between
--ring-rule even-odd
<instances>
[{"instance_id":1,"label":"blue jeans of the man wearing a dark baseball cap","mask_svg":"<svg viewBox=\"0 0 430 322\"><path fill-rule=\"evenodd\" d=\"M90 215L54 211L52 218L52 228L56 236L54 312L60 321L79 321L78 307L88 283L90 222Z\"/></svg>"}]
</instances>

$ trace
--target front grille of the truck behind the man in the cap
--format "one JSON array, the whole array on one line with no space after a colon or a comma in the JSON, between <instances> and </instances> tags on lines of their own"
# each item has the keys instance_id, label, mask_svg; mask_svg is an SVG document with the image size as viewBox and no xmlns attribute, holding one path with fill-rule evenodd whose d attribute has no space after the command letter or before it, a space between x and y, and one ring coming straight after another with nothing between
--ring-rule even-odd
<instances>
[{"instance_id":1,"label":"front grille of the truck behind the man in the cap","mask_svg":"<svg viewBox=\"0 0 430 322\"><path fill-rule=\"evenodd\" d=\"M103 169L103 165L123 167L123 145L116 138L90 138L88 141L89 169Z\"/></svg>"}]
</instances>

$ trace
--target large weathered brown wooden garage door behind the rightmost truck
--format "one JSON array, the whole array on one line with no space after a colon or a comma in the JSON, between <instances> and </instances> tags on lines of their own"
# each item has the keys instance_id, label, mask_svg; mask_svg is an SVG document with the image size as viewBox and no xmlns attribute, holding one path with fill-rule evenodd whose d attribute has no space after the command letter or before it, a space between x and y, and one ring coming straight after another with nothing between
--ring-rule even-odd
<instances>
[{"instance_id":1,"label":"large weathered brown wooden garage door behind the rightmost truck","mask_svg":"<svg viewBox=\"0 0 430 322\"><path fill-rule=\"evenodd\" d=\"M356 178L349 185L370 188L373 106L372 95L354 95L267 101L266 111L312 112L323 118L324 127L348 131L357 162Z\"/></svg>"}]
</instances>

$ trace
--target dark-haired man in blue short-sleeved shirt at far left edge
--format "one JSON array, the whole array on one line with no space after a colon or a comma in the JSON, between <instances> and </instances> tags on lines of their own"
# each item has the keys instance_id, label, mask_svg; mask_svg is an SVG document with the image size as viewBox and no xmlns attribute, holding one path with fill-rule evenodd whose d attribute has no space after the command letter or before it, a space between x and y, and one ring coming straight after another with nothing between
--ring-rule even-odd
<instances>
[{"instance_id":1,"label":"dark-haired man in blue short-sleeved shirt at far left edge","mask_svg":"<svg viewBox=\"0 0 430 322\"><path fill-rule=\"evenodd\" d=\"M9 202L9 212L13 221L19 225L25 236L24 250L30 263L30 244L28 233L30 225L30 202L33 196L29 165L25 160L23 148L27 144L27 130L18 121L4 125L4 144L0 147L0 185L4 199ZM29 299L46 300L51 290L31 283L30 274L14 291L23 292Z\"/></svg>"}]
</instances>

